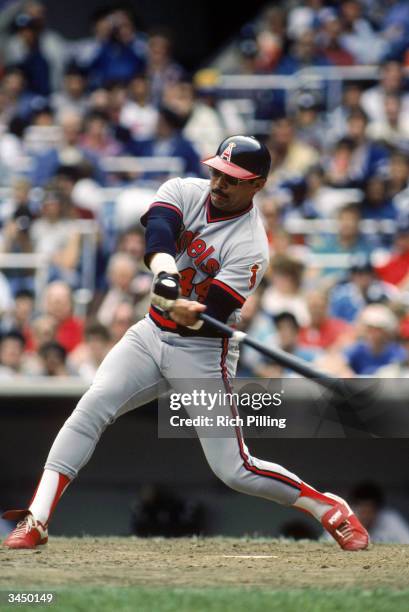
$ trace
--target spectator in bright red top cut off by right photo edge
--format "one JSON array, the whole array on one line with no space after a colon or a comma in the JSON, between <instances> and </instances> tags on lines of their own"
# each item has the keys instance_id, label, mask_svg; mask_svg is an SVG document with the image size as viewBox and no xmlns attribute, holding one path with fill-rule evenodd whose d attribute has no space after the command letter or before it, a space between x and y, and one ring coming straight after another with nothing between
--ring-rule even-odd
<instances>
[{"instance_id":1,"label":"spectator in bright red top cut off by right photo edge","mask_svg":"<svg viewBox=\"0 0 409 612\"><path fill-rule=\"evenodd\" d=\"M402 290L409 286L409 217L401 218L391 253L387 260L376 266L376 273L386 283Z\"/></svg>"}]
</instances>

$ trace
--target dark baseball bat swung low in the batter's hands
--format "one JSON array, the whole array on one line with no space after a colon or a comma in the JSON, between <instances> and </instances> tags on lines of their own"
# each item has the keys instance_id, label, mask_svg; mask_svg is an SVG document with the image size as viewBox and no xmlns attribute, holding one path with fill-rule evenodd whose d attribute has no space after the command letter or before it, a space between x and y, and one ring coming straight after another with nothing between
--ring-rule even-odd
<instances>
[{"instance_id":1,"label":"dark baseball bat swung low in the batter's hands","mask_svg":"<svg viewBox=\"0 0 409 612\"><path fill-rule=\"evenodd\" d=\"M231 327L229 327L229 325L226 325L225 323L222 323L221 321L210 317L204 312L199 314L199 319L206 322L208 325L210 325L217 331L221 332L224 337L232 338L234 340L237 340L241 344L251 346L256 351L259 351L266 357L269 357L273 361L276 361L281 366L289 368L290 370L297 372L297 374L301 374L301 376L309 378L322 385L323 387L326 387L327 389L331 389L331 391L338 391L341 395L343 394L343 386L338 378L330 376L325 372L321 372L320 370L311 367L309 363L307 363L303 359L295 357L294 355L291 355L290 353L287 353L286 351L283 351L279 348L270 348L265 344L262 344L261 342L258 342L253 338L250 338L246 333L232 329Z\"/></svg>"}]
</instances>

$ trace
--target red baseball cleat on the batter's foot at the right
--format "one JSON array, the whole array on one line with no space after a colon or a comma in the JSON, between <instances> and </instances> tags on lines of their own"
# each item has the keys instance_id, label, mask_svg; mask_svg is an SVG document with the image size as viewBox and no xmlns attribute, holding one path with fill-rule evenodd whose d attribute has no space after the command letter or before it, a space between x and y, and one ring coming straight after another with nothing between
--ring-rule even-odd
<instances>
[{"instance_id":1,"label":"red baseball cleat on the batter's foot at the right","mask_svg":"<svg viewBox=\"0 0 409 612\"><path fill-rule=\"evenodd\" d=\"M337 503L324 514L321 524L344 550L368 548L369 535L346 501L332 493L325 493Z\"/></svg>"}]
</instances>

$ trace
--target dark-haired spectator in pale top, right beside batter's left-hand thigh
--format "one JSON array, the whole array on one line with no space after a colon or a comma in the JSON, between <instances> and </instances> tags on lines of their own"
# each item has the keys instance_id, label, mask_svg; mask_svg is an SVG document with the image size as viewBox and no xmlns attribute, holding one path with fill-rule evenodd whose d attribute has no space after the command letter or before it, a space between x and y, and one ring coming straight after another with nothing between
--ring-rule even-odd
<instances>
[{"instance_id":1,"label":"dark-haired spectator in pale top, right beside batter's left-hand thigh","mask_svg":"<svg viewBox=\"0 0 409 612\"><path fill-rule=\"evenodd\" d=\"M91 321L85 326L84 342L71 352L68 363L84 381L91 384L110 348L111 335L108 328Z\"/></svg>"}]
</instances>

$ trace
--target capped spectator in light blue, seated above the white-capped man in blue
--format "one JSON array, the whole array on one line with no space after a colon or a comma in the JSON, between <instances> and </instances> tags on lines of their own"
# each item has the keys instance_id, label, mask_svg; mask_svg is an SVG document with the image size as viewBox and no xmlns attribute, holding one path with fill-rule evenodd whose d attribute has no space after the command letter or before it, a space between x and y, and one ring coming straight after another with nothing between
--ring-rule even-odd
<instances>
[{"instance_id":1,"label":"capped spectator in light blue, seated above the white-capped man in blue","mask_svg":"<svg viewBox=\"0 0 409 612\"><path fill-rule=\"evenodd\" d=\"M354 323L368 304L399 302L400 291L379 280L369 257L353 258L346 281L331 289L329 312L331 316Z\"/></svg>"}]
</instances>

